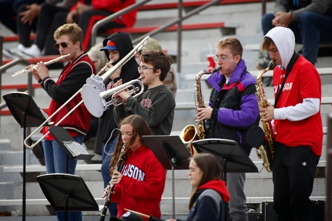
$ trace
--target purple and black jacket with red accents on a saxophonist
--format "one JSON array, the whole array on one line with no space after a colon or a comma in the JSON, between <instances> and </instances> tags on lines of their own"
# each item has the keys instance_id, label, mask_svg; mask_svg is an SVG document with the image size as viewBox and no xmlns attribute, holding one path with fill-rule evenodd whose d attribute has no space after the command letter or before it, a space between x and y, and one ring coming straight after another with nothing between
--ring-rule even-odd
<instances>
[{"instance_id":1,"label":"purple and black jacket with red accents on a saxophonist","mask_svg":"<svg viewBox=\"0 0 332 221\"><path fill-rule=\"evenodd\" d=\"M213 110L206 121L206 138L235 140L249 156L252 147L247 143L247 132L252 126L258 126L260 119L256 78L241 60L227 85L220 72L212 73L207 81L213 87L209 101Z\"/></svg>"}]
</instances>

